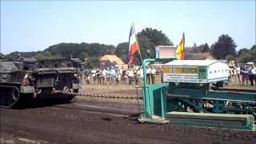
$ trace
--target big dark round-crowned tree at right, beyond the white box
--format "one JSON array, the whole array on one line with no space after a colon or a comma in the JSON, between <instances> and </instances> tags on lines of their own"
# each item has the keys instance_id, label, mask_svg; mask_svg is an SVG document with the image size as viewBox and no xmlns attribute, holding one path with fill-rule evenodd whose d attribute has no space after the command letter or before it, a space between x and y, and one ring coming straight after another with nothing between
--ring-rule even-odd
<instances>
[{"instance_id":1,"label":"big dark round-crowned tree at right, beyond the white box","mask_svg":"<svg viewBox=\"0 0 256 144\"><path fill-rule=\"evenodd\" d=\"M223 59L228 54L236 56L236 47L234 40L228 34L222 34L218 37L218 42L214 42L214 45L210 47L210 53L214 58Z\"/></svg>"}]
</instances>

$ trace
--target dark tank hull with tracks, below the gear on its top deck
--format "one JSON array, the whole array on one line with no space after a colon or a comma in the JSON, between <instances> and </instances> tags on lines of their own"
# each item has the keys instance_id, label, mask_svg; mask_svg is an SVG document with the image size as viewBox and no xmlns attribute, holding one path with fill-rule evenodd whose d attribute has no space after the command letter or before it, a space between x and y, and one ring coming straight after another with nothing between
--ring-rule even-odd
<instances>
[{"instance_id":1,"label":"dark tank hull with tracks, below the gear on its top deck","mask_svg":"<svg viewBox=\"0 0 256 144\"><path fill-rule=\"evenodd\" d=\"M0 107L13 108L29 99L71 100L82 87L74 67L19 70L13 62L1 62Z\"/></svg>"}]
</instances>

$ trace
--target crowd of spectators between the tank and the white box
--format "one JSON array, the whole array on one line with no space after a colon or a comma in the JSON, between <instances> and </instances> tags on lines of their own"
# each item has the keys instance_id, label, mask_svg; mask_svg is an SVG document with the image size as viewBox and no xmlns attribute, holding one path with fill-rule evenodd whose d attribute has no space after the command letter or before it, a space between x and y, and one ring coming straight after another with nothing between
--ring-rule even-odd
<instances>
[{"instance_id":1,"label":"crowd of spectators between the tank and the white box","mask_svg":"<svg viewBox=\"0 0 256 144\"><path fill-rule=\"evenodd\" d=\"M155 83L156 74L162 75L161 66L146 66L146 78L148 83ZM128 69L124 69L123 67L118 68L115 66L105 67L102 69L94 68L92 70L86 70L82 79L83 82L86 83L97 83L102 85L118 83L141 85L144 82L142 66L134 66L133 68Z\"/></svg>"}]
</instances>

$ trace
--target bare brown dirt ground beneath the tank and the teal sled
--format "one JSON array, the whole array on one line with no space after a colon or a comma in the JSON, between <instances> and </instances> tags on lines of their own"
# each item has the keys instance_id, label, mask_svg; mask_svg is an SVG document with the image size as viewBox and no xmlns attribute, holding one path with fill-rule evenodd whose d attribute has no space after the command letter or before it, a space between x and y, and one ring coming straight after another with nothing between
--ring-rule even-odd
<instances>
[{"instance_id":1,"label":"bare brown dirt ground beneath the tank and the teal sled","mask_svg":"<svg viewBox=\"0 0 256 144\"><path fill-rule=\"evenodd\" d=\"M134 95L134 86L85 86L91 93ZM140 103L142 101L139 101ZM141 106L141 105L140 105ZM0 109L0 143L255 143L256 132L139 123L137 100L77 97Z\"/></svg>"}]
</instances>

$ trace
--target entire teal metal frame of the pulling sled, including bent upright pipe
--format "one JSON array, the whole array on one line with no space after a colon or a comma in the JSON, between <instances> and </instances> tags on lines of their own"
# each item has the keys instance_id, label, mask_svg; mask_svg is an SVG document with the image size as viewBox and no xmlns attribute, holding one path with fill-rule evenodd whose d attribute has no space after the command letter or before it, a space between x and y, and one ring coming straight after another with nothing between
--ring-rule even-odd
<instances>
[{"instance_id":1,"label":"entire teal metal frame of the pulling sled, including bent upright pipe","mask_svg":"<svg viewBox=\"0 0 256 144\"><path fill-rule=\"evenodd\" d=\"M143 89L143 101L144 101L144 114L141 119L145 122L155 122L158 120L154 119L162 118L170 122L176 122L166 114L171 111L183 111L187 112L188 107L192 108L194 112L203 112L204 114L214 113L221 118L227 112L252 114L256 117L256 111L252 107L237 108L226 106L226 102L242 103L243 105L249 105L256 103L256 93L254 92L238 92L232 90L210 90L210 84L199 84L193 83L181 83L167 82L162 84L147 84L146 78L146 63L154 62L155 59L144 59L142 62L143 76L144 76L144 89ZM184 87L182 87L185 86ZM204 106L200 106L197 102L209 102L213 105L212 110L207 110ZM218 115L220 114L220 115ZM200 114L199 114L200 115ZM201 115L198 116L200 119ZM204 118L204 117L203 117ZM203 119L202 118L202 119ZM230 118L232 119L232 118ZM179 120L176 123L190 126L210 126L210 127L225 127L232 129L241 130L255 130L254 118L251 119L250 115L243 119L243 126L235 124L223 124L214 122L193 122L190 120L182 121Z\"/></svg>"}]
</instances>

